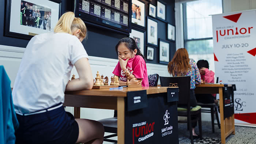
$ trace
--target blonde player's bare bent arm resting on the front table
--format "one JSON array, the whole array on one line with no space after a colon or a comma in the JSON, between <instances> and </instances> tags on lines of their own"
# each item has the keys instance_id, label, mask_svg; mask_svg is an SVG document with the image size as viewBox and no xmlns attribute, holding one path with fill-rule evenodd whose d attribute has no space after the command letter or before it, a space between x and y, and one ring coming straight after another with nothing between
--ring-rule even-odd
<instances>
[{"instance_id":1,"label":"blonde player's bare bent arm resting on the front table","mask_svg":"<svg viewBox=\"0 0 256 144\"><path fill-rule=\"evenodd\" d=\"M68 82L66 91L90 90L93 88L93 74L88 58L80 58L75 62L79 78Z\"/></svg>"}]
</instances>

